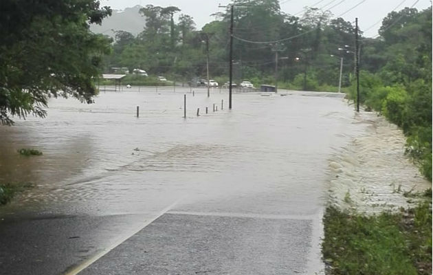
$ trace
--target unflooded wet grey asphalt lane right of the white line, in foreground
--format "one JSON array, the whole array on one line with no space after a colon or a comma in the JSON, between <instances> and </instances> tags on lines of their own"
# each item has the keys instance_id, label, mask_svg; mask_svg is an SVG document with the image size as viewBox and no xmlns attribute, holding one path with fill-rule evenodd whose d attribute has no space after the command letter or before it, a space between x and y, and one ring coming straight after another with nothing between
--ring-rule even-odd
<instances>
[{"instance_id":1,"label":"unflooded wet grey asphalt lane right of the white line, in foreground","mask_svg":"<svg viewBox=\"0 0 433 275\"><path fill-rule=\"evenodd\" d=\"M80 274L304 274L311 221L164 214Z\"/></svg>"}]
</instances>

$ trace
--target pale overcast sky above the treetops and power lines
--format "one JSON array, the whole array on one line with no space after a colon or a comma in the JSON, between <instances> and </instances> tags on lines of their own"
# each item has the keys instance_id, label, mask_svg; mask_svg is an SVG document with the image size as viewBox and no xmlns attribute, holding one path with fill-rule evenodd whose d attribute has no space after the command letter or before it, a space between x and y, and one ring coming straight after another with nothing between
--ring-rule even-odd
<instances>
[{"instance_id":1,"label":"pale overcast sky above the treetops and power lines","mask_svg":"<svg viewBox=\"0 0 433 275\"><path fill-rule=\"evenodd\" d=\"M122 10L124 8L133 7L135 5L160 5L166 7L168 5L175 5L181 9L180 13L188 14L192 16L197 29L201 29L206 23L213 21L215 18L211 17L210 14L214 12L222 11L223 9L218 8L219 4L226 5L230 3L230 0L100 0L101 5L109 5L113 10ZM340 3L341 2L341 3ZM340 3L340 4L339 4ZM359 4L359 5L357 5ZM415 5L414 5L415 4ZM404 7L410 7L414 5L414 8L423 10L431 5L430 0L280 0L282 12L288 14L297 14L305 6L313 6L316 8L331 8L331 12L335 17L343 17L346 21L355 22L355 17L358 17L359 28L364 31L370 28L372 25L381 22L381 19L386 17L388 12L394 10L397 6L396 11L401 10ZM357 7L355 7L357 5ZM355 7L355 8L353 8ZM351 10L353 8L353 10ZM349 11L350 10L350 11ZM346 13L345 13L346 12ZM380 28L381 23L377 23L370 30L364 31L364 36L372 37L377 34L377 30Z\"/></svg>"}]
</instances>

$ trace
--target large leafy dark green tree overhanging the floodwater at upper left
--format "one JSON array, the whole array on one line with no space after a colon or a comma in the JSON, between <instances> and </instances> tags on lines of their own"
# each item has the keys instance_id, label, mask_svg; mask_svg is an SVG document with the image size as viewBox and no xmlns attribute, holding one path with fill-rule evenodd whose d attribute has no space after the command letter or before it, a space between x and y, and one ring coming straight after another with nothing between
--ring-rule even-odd
<instances>
[{"instance_id":1,"label":"large leafy dark green tree overhanging the floodwater at upper left","mask_svg":"<svg viewBox=\"0 0 433 275\"><path fill-rule=\"evenodd\" d=\"M99 1L2 0L0 10L0 121L30 113L44 117L49 97L92 102L102 55L109 40L89 23L111 14Z\"/></svg>"}]
</instances>

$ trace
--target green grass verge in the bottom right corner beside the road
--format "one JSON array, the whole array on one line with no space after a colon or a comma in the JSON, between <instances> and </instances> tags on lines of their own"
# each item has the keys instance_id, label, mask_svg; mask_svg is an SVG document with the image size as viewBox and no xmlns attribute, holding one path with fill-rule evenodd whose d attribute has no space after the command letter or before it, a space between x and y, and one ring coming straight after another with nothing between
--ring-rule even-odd
<instances>
[{"instance_id":1,"label":"green grass verge in the bottom right corner beside the road","mask_svg":"<svg viewBox=\"0 0 433 275\"><path fill-rule=\"evenodd\" d=\"M432 274L431 203L365 216L326 208L326 274Z\"/></svg>"}]
</instances>

